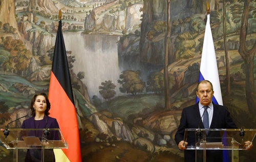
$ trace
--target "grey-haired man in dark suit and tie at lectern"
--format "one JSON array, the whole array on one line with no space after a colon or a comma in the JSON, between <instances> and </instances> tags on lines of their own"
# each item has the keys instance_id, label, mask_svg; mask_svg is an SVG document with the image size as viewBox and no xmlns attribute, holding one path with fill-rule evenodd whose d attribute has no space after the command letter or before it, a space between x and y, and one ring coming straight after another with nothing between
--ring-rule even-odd
<instances>
[{"instance_id":1,"label":"grey-haired man in dark suit and tie at lectern","mask_svg":"<svg viewBox=\"0 0 256 162\"><path fill-rule=\"evenodd\" d=\"M184 151L184 161L196 161L196 151L186 150L185 146L195 146L196 144L196 134L195 132L190 132L187 135L187 140L184 143L184 132L186 128L205 128L203 124L203 114L208 113L208 126L209 129L233 129L237 128L236 124L232 121L230 113L224 106L216 105L212 103L211 98L214 96L214 89L212 84L208 80L202 80L197 85L197 97L199 102L195 105L188 106L183 109L180 119L180 125L175 134L175 141L180 150ZM204 106L208 106L205 108ZM206 118L205 118L206 119ZM207 137L212 137L218 135L216 131L209 131ZM210 139L210 138L208 138ZM207 141L207 142L217 142L217 141ZM249 142L248 142L249 143ZM252 147L252 145L251 145ZM200 159L200 156L201 159ZM197 152L197 161L203 159L203 153L201 150ZM207 161L223 161L221 150L207 150L206 152Z\"/></svg>"}]
</instances>

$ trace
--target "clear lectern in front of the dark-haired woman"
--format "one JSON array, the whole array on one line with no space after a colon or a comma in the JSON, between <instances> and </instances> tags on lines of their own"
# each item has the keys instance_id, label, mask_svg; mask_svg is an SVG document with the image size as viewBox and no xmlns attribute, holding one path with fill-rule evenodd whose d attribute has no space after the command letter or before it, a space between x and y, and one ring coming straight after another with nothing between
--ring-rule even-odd
<instances>
[{"instance_id":1,"label":"clear lectern in front of the dark-haired woman","mask_svg":"<svg viewBox=\"0 0 256 162\"><path fill-rule=\"evenodd\" d=\"M7 132L7 136L4 132ZM1 129L0 141L7 149L13 149L13 161L18 162L18 150L28 149L35 161L53 161L53 149L68 148L58 128L48 129Z\"/></svg>"}]
</instances>

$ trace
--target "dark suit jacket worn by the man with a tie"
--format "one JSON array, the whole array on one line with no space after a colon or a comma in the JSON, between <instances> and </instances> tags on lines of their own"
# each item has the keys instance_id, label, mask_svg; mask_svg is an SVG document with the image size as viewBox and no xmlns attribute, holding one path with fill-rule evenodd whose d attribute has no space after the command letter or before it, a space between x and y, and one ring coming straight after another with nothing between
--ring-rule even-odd
<instances>
[{"instance_id":1,"label":"dark suit jacket worn by the man with a tie","mask_svg":"<svg viewBox=\"0 0 256 162\"><path fill-rule=\"evenodd\" d=\"M236 124L232 121L230 117L230 113L227 111L227 109L224 106L216 105L214 104L214 113L212 114L212 121L209 129L233 129L237 128ZM175 134L175 141L177 145L181 141L184 140L184 132L186 128L204 128L203 122L200 117L199 112L199 103L195 105L191 105L188 107L185 107L182 110L181 119L180 119L180 125L178 127L178 130ZM207 137L216 136L218 132L210 131L207 134ZM187 141L188 146L196 144L196 134L195 132L190 132L187 135ZM209 141L209 142L215 142L215 141ZM208 151L209 152L209 151ZM206 154L207 161L208 159L212 159L211 161L222 161L222 155L218 155L219 153L210 152L209 155ZM194 150L185 150L184 151L184 158L185 161L195 161L196 154ZM217 159L218 158L218 159Z\"/></svg>"}]
</instances>

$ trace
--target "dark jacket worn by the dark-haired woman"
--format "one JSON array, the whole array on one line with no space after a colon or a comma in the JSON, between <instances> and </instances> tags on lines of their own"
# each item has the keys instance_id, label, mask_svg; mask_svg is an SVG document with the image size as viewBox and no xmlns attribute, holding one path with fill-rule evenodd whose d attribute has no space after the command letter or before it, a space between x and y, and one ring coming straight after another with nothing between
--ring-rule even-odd
<instances>
[{"instance_id":1,"label":"dark jacket worn by the dark-haired woman","mask_svg":"<svg viewBox=\"0 0 256 162\"><path fill-rule=\"evenodd\" d=\"M31 117L26 119L22 128L33 129L35 128L35 117ZM41 121L41 125L38 128L59 128L58 122L55 118L48 117L45 115L44 119ZM37 129L37 128L36 128ZM39 134L39 135L38 135ZM38 137L46 137L43 131L22 131L20 132L20 136L38 136ZM50 131L49 135L47 135L48 140L59 140L57 131ZM41 149L28 149L25 161L41 161ZM55 161L55 156L53 153L53 149L45 149L45 161Z\"/></svg>"}]
</instances>

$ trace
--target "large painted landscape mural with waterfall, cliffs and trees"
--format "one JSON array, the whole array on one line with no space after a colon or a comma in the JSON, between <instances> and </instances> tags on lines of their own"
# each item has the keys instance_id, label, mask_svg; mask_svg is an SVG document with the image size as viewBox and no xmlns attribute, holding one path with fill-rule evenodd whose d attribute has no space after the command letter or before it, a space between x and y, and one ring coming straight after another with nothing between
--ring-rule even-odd
<instances>
[{"instance_id":1,"label":"large painted landscape mural with waterfall, cliffs and trees","mask_svg":"<svg viewBox=\"0 0 256 162\"><path fill-rule=\"evenodd\" d=\"M223 103L238 127L255 128L256 1L208 2ZM195 103L202 0L0 0L1 127L30 115L35 93L48 93L59 9L82 160L183 161L174 134ZM253 161L253 152L240 160ZM10 159L1 145L0 160Z\"/></svg>"}]
</instances>

